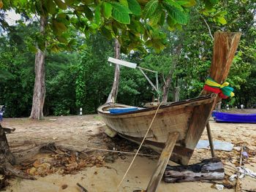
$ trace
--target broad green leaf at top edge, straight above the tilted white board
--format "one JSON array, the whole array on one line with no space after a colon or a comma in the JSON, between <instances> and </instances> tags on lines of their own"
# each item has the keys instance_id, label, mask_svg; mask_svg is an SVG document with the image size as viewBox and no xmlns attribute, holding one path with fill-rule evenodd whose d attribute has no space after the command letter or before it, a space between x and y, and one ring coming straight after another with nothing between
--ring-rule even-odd
<instances>
[{"instance_id":1,"label":"broad green leaf at top edge, straight above the tilted white board","mask_svg":"<svg viewBox=\"0 0 256 192\"><path fill-rule=\"evenodd\" d=\"M119 4L117 2L112 2L112 16L115 20L117 20L119 23L129 24L130 18L129 13L130 10L127 7L124 7L122 4Z\"/></svg>"}]
</instances>

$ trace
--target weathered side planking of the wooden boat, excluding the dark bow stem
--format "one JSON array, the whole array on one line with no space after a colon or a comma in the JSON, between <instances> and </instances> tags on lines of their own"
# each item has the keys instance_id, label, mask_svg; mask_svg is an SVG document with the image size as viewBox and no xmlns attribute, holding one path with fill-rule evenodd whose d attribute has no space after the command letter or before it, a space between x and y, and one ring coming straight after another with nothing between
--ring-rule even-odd
<instances>
[{"instance_id":1,"label":"weathered side planking of the wooden boat, excluding the dark bow stem","mask_svg":"<svg viewBox=\"0 0 256 192\"><path fill-rule=\"evenodd\" d=\"M146 139L165 143L169 132L178 131L180 132L178 140L184 140L189 118L191 118L194 107L209 104L212 101L213 99L211 97L204 97L192 102L183 101L181 105L160 107ZM123 105L107 104L105 107L102 107L102 112L99 111L99 114L102 116L107 126L117 131L118 134L143 138L154 117L155 108L139 110L137 112L127 112L126 114L120 115L104 113L104 111L109 108L121 106Z\"/></svg>"}]
</instances>

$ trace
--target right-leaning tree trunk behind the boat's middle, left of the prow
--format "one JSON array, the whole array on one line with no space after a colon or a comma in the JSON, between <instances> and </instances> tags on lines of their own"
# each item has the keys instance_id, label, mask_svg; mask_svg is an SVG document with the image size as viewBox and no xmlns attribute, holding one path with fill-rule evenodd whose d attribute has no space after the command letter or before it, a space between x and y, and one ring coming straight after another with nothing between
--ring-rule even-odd
<instances>
[{"instance_id":1,"label":"right-leaning tree trunk behind the boat's middle, left of the prow","mask_svg":"<svg viewBox=\"0 0 256 192\"><path fill-rule=\"evenodd\" d=\"M167 75L165 85L162 88L162 101L163 102L167 102L167 99L168 99L170 83L172 82L173 72L176 69L176 64L178 62L178 56L181 54L181 47L182 47L182 45L179 44L178 47L176 48L176 51L173 56L173 67L170 67L170 71Z\"/></svg>"}]
</instances>

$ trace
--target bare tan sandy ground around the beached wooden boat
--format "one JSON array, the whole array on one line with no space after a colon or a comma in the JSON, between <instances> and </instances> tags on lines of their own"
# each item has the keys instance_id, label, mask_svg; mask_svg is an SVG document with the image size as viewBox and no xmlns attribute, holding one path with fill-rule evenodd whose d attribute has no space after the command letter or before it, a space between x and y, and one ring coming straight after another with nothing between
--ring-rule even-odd
<instances>
[{"instance_id":1,"label":"bare tan sandy ground around the beached wooden boat","mask_svg":"<svg viewBox=\"0 0 256 192\"><path fill-rule=\"evenodd\" d=\"M16 128L13 134L7 134L10 148L19 162L27 158L42 158L35 155L34 148L48 142L55 142L59 145L69 145L78 150L96 147L108 149L106 142L96 137L104 129L105 123L98 115L82 115L68 117L47 117L45 120L37 122L28 118L4 119L2 126ZM210 121L212 136L214 139L232 142L234 145L246 143L246 147L251 152L256 152L256 124L240 123L215 123ZM207 139L206 131L201 139ZM233 174L239 152L217 151L217 156L225 164L225 173ZM104 154L103 154L104 155ZM202 159L210 158L210 150L195 150L190 164L197 163ZM109 192L109 191L134 191L145 189L150 180L151 174L157 164L157 158L138 156L135 163L129 170L127 177L117 189L117 185L124 176L133 155L125 155L125 158L117 158L113 163L106 163L103 167L87 167L77 174L49 174L45 177L37 176L37 180L20 180L12 178L7 192L57 192L57 191L80 191L76 183L80 183L89 192ZM174 165L170 161L171 165ZM256 172L256 155L251 153L246 164L247 168ZM235 184L233 182L233 184ZM66 188L62 189L66 185ZM189 182L189 183L160 183L157 191L217 191L211 188L211 183ZM256 191L256 179L244 177L241 179L241 188L244 191ZM234 191L234 189L224 189L223 191Z\"/></svg>"}]
</instances>

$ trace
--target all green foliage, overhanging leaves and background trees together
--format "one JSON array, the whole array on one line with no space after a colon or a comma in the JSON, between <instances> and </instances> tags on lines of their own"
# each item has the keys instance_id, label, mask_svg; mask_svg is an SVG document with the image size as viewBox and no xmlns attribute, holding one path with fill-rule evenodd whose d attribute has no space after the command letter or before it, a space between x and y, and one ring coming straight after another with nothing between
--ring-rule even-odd
<instances>
[{"instance_id":1,"label":"all green foliage, overhanging leaves and background trees together","mask_svg":"<svg viewBox=\"0 0 256 192\"><path fill-rule=\"evenodd\" d=\"M28 4L24 1L3 2L10 7L20 7L21 4L24 9L33 7L31 1L25 1ZM159 72L160 88L173 70L169 101L173 100L172 91L176 86L181 88L181 99L198 96L211 65L213 41L208 34L208 26L212 34L219 28L243 34L227 79L235 88L236 96L225 102L244 104L246 107L256 103L253 1L219 2L214 7L211 6L216 1L207 2L207 6L199 1L195 5L195 1L189 0L148 1L147 4L141 1L49 2L55 7L48 4L43 7L49 18L48 35L40 35L38 23L32 22L29 25L18 23L0 37L0 104L7 104L7 116L27 117L30 114L34 54L28 50L36 51L36 45L44 48L44 40L49 42L45 115L78 114L79 107L83 107L85 113L94 113L100 104L105 103L113 82L114 65L110 66L107 62L108 56L114 55L113 37L117 37L123 45L122 53L127 53L122 55L124 60ZM69 8L66 9L64 4ZM118 8L114 8L113 4L118 4ZM129 24L119 22L115 19L116 15L113 16L114 9L120 7L125 9L122 13L127 15L124 22L128 23L129 17ZM26 10L26 15L32 12L45 14L40 7L33 9L30 13ZM23 9L17 11L25 12ZM199 13L204 15L208 26ZM227 24L222 20L224 17ZM123 21L124 18L119 19ZM170 31L181 26L183 31ZM99 33L93 34L97 30L104 37ZM145 44L146 47L142 46ZM182 46L181 54L176 55L179 45ZM129 50L134 50L134 53L128 54ZM176 59L178 62L175 65ZM147 74L155 83L154 74ZM140 71L121 67L118 102L141 106L151 101L154 93Z\"/></svg>"}]
</instances>

